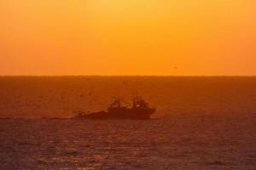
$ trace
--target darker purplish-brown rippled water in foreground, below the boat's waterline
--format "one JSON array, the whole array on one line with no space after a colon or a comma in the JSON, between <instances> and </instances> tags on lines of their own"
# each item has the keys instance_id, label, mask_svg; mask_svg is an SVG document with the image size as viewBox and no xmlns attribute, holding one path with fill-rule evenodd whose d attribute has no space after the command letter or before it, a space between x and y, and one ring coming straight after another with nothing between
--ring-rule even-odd
<instances>
[{"instance_id":1,"label":"darker purplish-brown rippled water in foreground, below the boat's waterline","mask_svg":"<svg viewBox=\"0 0 256 170\"><path fill-rule=\"evenodd\" d=\"M0 167L253 170L255 120L214 120L2 120Z\"/></svg>"}]
</instances>

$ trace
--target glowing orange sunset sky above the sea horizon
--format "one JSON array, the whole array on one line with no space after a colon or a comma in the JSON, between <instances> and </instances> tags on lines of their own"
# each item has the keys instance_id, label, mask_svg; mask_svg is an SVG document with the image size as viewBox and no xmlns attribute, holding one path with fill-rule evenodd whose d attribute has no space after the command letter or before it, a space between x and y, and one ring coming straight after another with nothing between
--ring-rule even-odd
<instances>
[{"instance_id":1,"label":"glowing orange sunset sky above the sea horizon","mask_svg":"<svg viewBox=\"0 0 256 170\"><path fill-rule=\"evenodd\" d=\"M0 75L256 75L255 0L9 0L0 24Z\"/></svg>"}]
</instances>

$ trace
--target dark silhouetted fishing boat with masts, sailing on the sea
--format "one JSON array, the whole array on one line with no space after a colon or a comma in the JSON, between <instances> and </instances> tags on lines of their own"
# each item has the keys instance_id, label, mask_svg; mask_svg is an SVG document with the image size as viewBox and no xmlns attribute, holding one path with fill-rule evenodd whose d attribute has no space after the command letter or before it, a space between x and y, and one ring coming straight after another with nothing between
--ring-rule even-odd
<instances>
[{"instance_id":1,"label":"dark silhouetted fishing boat with masts, sailing on the sea","mask_svg":"<svg viewBox=\"0 0 256 170\"><path fill-rule=\"evenodd\" d=\"M113 104L108 107L108 111L98 111L87 114L80 111L76 119L149 119L155 112L155 108L150 108L148 103L141 96L132 99L132 106L126 107L121 102L127 103L122 99L115 99Z\"/></svg>"}]
</instances>

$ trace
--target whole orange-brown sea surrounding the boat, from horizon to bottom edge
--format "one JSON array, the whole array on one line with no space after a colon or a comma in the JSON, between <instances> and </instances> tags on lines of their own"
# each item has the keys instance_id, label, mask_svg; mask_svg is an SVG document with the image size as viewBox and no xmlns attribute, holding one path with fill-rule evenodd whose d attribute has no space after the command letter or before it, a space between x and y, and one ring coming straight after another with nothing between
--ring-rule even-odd
<instances>
[{"instance_id":1,"label":"whole orange-brown sea surrounding the boat, from horizon to bottom edge","mask_svg":"<svg viewBox=\"0 0 256 170\"><path fill-rule=\"evenodd\" d=\"M149 120L78 120L143 96ZM256 77L0 77L0 169L256 169Z\"/></svg>"}]
</instances>

